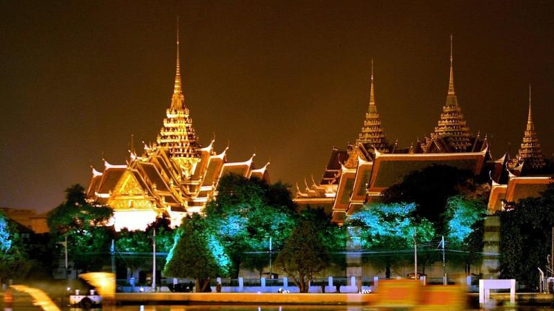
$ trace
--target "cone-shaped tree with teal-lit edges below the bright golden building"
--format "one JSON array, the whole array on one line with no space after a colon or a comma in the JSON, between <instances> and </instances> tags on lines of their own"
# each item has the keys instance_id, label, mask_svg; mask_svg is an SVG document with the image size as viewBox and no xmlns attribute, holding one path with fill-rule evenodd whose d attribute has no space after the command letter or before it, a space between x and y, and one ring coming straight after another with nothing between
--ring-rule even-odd
<instances>
[{"instance_id":1,"label":"cone-shaped tree with teal-lit edges below the bright golden building","mask_svg":"<svg viewBox=\"0 0 554 311\"><path fill-rule=\"evenodd\" d=\"M193 278L196 291L205 292L211 278L229 274L230 265L218 236L211 232L202 216L195 214L183 219L163 273L177 278Z\"/></svg>"}]
</instances>

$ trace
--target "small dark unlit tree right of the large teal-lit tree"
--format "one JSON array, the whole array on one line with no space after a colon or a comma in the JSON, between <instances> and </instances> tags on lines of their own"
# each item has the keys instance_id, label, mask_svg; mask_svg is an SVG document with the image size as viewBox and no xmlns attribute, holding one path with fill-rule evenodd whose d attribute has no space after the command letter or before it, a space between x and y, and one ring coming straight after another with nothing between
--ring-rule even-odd
<instances>
[{"instance_id":1,"label":"small dark unlit tree right of the large teal-lit tree","mask_svg":"<svg viewBox=\"0 0 554 311\"><path fill-rule=\"evenodd\" d=\"M329 264L329 249L324 235L321 225L314 221L314 214L303 213L277 256L276 265L292 277L300 292L308 292L314 274Z\"/></svg>"}]
</instances>

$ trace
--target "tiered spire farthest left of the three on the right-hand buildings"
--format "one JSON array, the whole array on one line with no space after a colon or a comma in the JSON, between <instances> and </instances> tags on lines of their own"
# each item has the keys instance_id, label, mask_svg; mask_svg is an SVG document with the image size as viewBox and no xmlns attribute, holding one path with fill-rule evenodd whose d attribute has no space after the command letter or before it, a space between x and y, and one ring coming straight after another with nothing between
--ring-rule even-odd
<instances>
[{"instance_id":1,"label":"tiered spire farthest left of the three on the right-hand buildings","mask_svg":"<svg viewBox=\"0 0 554 311\"><path fill-rule=\"evenodd\" d=\"M379 152L388 152L388 143L381 126L381 118L377 113L375 104L375 88L373 86L373 59L371 59L371 86L369 93L369 109L366 113L364 126L361 127L361 133L357 142L367 144L367 147L374 147Z\"/></svg>"}]
</instances>

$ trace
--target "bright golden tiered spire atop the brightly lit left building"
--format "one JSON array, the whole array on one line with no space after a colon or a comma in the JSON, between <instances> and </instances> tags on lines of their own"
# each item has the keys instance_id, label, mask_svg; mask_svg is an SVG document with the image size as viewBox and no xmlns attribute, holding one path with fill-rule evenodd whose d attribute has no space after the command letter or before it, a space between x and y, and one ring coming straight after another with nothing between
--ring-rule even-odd
<instances>
[{"instance_id":1,"label":"bright golden tiered spire atop the brightly lit left building","mask_svg":"<svg viewBox=\"0 0 554 311\"><path fill-rule=\"evenodd\" d=\"M175 69L175 86L171 97L171 106L166 110L166 118L157 138L157 147L168 153L168 156L181 167L182 176L188 178L193 174L199 160L200 148L193 119L185 106L185 97L181 86L181 68L179 64L179 17L177 17L177 62Z\"/></svg>"}]
</instances>

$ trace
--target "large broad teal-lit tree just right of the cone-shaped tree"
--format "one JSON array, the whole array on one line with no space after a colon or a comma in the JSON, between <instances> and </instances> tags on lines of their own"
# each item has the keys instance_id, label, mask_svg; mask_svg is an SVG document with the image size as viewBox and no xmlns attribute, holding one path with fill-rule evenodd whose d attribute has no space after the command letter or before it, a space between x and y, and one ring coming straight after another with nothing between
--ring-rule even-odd
<instances>
[{"instance_id":1,"label":"large broad teal-lit tree just right of the cone-shaped tree","mask_svg":"<svg viewBox=\"0 0 554 311\"><path fill-rule=\"evenodd\" d=\"M240 265L262 273L268 257L245 253L268 252L269 238L274 249L283 247L296 216L288 186L227 174L217 191L217 199L206 206L206 221L231 258L231 275L238 276Z\"/></svg>"}]
</instances>

